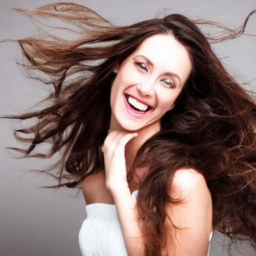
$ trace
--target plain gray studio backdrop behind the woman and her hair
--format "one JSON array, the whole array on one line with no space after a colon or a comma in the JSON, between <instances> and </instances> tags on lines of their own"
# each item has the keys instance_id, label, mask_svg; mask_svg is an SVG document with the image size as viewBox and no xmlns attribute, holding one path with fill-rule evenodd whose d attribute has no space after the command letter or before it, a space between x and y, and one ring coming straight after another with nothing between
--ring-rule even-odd
<instances>
[{"instance_id":1,"label":"plain gray studio backdrop behind the woman and her hair","mask_svg":"<svg viewBox=\"0 0 256 256\"><path fill-rule=\"evenodd\" d=\"M153 17L161 8L171 8L189 17L205 17L231 27L239 26L249 11L255 7L254 0L79 0L100 15L117 24L127 24ZM0 0L0 40L23 38L34 34L36 26L31 20L10 8L34 8L49 3L48 0ZM52 23L51 23L52 22ZM54 23L55 22L55 23ZM49 24L57 21L49 21ZM256 14L249 19L246 32L256 34ZM61 32L62 33L62 32ZM225 67L233 75L244 80L256 77L255 37L242 36L213 46ZM15 43L0 43L0 114L21 113L42 99L47 92L38 84L26 79L15 64L20 57ZM254 87L253 87L254 86ZM255 90L255 83L252 84ZM51 160L37 158L13 159L6 146L21 146L13 135L14 127L23 123L0 120L0 255L69 256L80 255L78 231L85 218L85 202L81 192L61 188L58 190L38 188L53 184L46 176L31 172L22 176L25 169L41 168ZM24 125L27 124L24 123ZM46 149L42 145L38 150ZM210 255L226 255L222 235L214 235ZM243 253L256 255L240 245Z\"/></svg>"}]
</instances>

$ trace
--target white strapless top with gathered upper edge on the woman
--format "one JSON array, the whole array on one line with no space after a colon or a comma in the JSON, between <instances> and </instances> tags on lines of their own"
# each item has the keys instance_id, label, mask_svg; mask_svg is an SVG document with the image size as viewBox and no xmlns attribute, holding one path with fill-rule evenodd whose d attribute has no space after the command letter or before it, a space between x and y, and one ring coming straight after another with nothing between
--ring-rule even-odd
<instances>
[{"instance_id":1,"label":"white strapless top with gathered upper edge on the woman","mask_svg":"<svg viewBox=\"0 0 256 256\"><path fill-rule=\"evenodd\" d=\"M138 190L131 197L136 203ZM127 256L121 225L116 205L106 203L91 203L85 206L87 214L82 222L78 239L82 256ZM209 236L209 256L210 241Z\"/></svg>"}]
</instances>

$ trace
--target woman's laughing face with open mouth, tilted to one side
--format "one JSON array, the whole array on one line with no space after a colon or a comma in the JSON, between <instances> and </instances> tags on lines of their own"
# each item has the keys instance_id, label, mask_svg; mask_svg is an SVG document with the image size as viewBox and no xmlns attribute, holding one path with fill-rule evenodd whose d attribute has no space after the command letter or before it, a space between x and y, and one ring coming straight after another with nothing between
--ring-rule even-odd
<instances>
[{"instance_id":1,"label":"woman's laughing face with open mouth, tilted to one side","mask_svg":"<svg viewBox=\"0 0 256 256\"><path fill-rule=\"evenodd\" d=\"M186 48L171 35L153 35L116 65L110 93L111 122L135 131L159 124L191 71Z\"/></svg>"}]
</instances>

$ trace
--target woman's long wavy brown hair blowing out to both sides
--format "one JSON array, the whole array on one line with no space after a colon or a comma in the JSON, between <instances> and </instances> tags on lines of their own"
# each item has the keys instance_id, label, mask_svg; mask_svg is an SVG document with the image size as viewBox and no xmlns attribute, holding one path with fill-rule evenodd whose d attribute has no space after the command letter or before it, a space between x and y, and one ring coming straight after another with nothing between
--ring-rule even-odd
<instances>
[{"instance_id":1,"label":"woman's long wavy brown hair blowing out to both sides","mask_svg":"<svg viewBox=\"0 0 256 256\"><path fill-rule=\"evenodd\" d=\"M48 103L42 110L4 116L37 118L36 124L14 132L17 139L30 143L27 149L11 147L23 157L51 157L60 152L55 164L38 170L58 180L57 185L45 187L79 187L86 176L104 168L100 146L110 123L114 66L148 36L172 34L188 50L192 71L175 107L162 117L161 130L139 148L127 175L131 181L137 169L147 167L136 204L139 218L146 220L141 226L144 255L160 255L164 247L165 205L171 202L167 191L174 171L181 167L204 175L212 196L214 229L231 239L250 239L256 247L255 101L210 47L210 43L243 34L255 10L236 30L181 14L118 26L88 7L69 2L15 10L33 19L41 16L67 21L81 35L72 40L48 33L5 40L19 43L24 60L21 65L28 77L54 88L42 101ZM222 33L204 34L200 25L218 27ZM34 137L25 139L18 132ZM32 154L37 144L49 138L52 146L48 153ZM58 171L53 174L56 167Z\"/></svg>"}]
</instances>

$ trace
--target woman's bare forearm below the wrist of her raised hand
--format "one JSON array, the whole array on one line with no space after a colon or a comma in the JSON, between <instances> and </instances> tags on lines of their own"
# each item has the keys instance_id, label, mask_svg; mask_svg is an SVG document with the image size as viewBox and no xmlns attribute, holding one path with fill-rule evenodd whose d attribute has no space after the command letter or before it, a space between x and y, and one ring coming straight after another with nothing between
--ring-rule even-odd
<instances>
[{"instance_id":1,"label":"woman's bare forearm below the wrist of her raised hand","mask_svg":"<svg viewBox=\"0 0 256 256\"><path fill-rule=\"evenodd\" d=\"M111 191L116 205L124 242L129 256L142 256L143 243L135 204L131 198L130 189L124 186Z\"/></svg>"}]
</instances>

